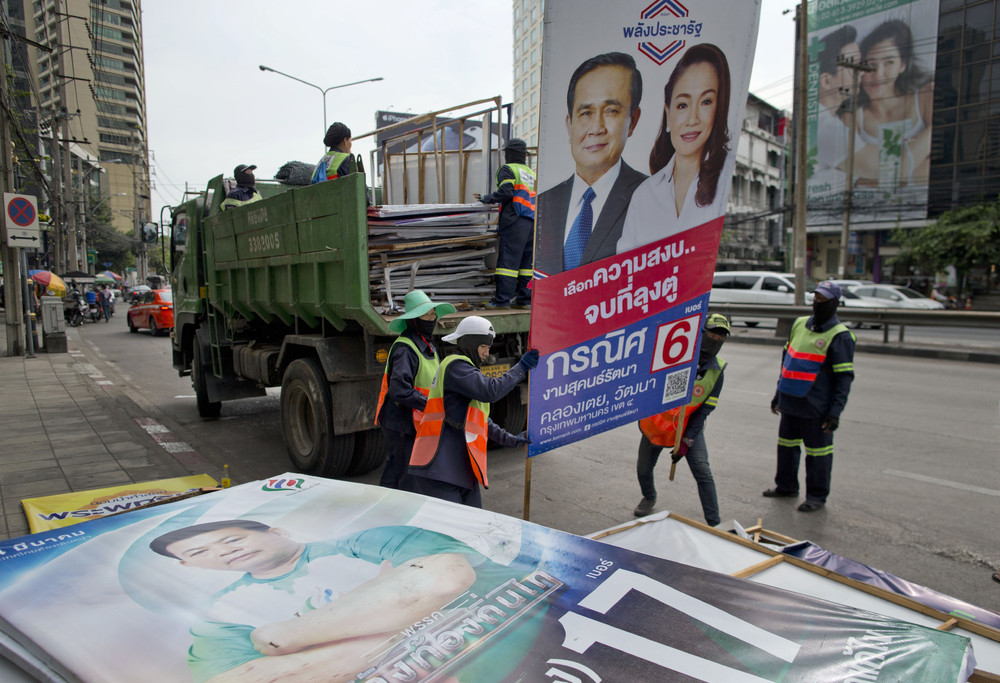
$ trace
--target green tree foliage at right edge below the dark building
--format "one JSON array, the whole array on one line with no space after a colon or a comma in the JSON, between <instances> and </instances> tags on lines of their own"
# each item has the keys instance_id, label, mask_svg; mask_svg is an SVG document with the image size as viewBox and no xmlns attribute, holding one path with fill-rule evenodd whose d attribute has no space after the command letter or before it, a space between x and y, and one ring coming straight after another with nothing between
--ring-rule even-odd
<instances>
[{"instance_id":1,"label":"green tree foliage at right edge below the dark building","mask_svg":"<svg viewBox=\"0 0 1000 683\"><path fill-rule=\"evenodd\" d=\"M896 261L911 261L930 272L954 266L964 282L976 268L987 271L1000 263L1000 199L941 214L924 228L899 239Z\"/></svg>"}]
</instances>

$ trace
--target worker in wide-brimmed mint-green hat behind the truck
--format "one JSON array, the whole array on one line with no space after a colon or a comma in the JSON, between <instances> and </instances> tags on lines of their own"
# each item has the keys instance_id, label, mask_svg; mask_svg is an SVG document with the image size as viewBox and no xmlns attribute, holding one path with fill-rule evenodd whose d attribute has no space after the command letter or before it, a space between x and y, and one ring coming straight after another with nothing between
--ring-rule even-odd
<instances>
[{"instance_id":1,"label":"worker in wide-brimmed mint-green hat behind the truck","mask_svg":"<svg viewBox=\"0 0 1000 683\"><path fill-rule=\"evenodd\" d=\"M434 327L438 318L454 313L455 307L436 304L419 289L403 298L403 306L406 312L389 323L389 331L399 336L389 349L375 424L382 428L388 452L379 486L409 490L406 468L438 369Z\"/></svg>"}]
</instances>

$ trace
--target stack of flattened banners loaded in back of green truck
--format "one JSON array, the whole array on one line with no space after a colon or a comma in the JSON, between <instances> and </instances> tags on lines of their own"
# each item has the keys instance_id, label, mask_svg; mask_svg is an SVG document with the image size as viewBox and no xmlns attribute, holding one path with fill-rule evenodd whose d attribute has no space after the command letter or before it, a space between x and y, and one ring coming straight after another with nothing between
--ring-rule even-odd
<instances>
[{"instance_id":1,"label":"stack of flattened banners loaded in back of green truck","mask_svg":"<svg viewBox=\"0 0 1000 683\"><path fill-rule=\"evenodd\" d=\"M420 204L368 209L371 301L398 310L411 289L435 301L480 304L493 294L495 207Z\"/></svg>"}]
</instances>

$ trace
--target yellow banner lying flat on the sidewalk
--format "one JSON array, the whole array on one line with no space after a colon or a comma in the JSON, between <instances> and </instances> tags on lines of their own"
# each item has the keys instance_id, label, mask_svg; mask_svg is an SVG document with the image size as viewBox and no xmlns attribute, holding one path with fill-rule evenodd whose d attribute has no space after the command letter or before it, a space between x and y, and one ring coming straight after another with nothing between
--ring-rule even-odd
<instances>
[{"instance_id":1,"label":"yellow banner lying flat on the sidewalk","mask_svg":"<svg viewBox=\"0 0 1000 683\"><path fill-rule=\"evenodd\" d=\"M116 512L135 510L165 498L218 485L215 479L207 474L195 474L190 477L157 479L138 484L60 493L56 496L25 498L21 501L21 505L24 506L24 514L28 517L31 532L38 533Z\"/></svg>"}]
</instances>

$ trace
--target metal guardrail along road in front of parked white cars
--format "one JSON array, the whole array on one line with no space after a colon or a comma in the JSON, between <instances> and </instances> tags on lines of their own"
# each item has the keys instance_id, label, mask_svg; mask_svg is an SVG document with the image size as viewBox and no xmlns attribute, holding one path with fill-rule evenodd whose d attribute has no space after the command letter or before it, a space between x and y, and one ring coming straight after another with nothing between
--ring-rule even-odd
<instances>
[{"instance_id":1,"label":"metal guardrail along road in front of parked white cars","mask_svg":"<svg viewBox=\"0 0 1000 683\"><path fill-rule=\"evenodd\" d=\"M787 337L796 318L812 315L810 306L775 306L769 304L709 303L709 311L747 318L777 318L776 337ZM837 317L842 322L858 322L882 326L882 341L888 343L889 329L899 326L899 341L903 341L907 325L927 327L1000 328L1000 312L996 311L921 311L906 308L851 308L841 306Z\"/></svg>"}]
</instances>

